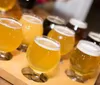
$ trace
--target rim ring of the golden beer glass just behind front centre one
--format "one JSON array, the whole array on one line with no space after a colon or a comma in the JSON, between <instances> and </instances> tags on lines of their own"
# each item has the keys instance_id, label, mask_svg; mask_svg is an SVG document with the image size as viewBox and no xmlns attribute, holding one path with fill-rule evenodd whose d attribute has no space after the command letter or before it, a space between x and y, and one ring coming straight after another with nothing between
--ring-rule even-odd
<instances>
[{"instance_id":1,"label":"rim ring of the golden beer glass just behind front centre one","mask_svg":"<svg viewBox=\"0 0 100 85\"><path fill-rule=\"evenodd\" d=\"M58 29L59 29L59 28L62 28L62 29L64 30L64 32L66 31L66 33L57 30L57 28L58 28ZM58 32L58 33L60 33L60 34L62 34L62 35L64 35L64 36L67 36L67 37L75 37L75 32L74 32L72 29L68 28L67 26L55 25L53 29L54 29L56 32Z\"/></svg>"}]
</instances>

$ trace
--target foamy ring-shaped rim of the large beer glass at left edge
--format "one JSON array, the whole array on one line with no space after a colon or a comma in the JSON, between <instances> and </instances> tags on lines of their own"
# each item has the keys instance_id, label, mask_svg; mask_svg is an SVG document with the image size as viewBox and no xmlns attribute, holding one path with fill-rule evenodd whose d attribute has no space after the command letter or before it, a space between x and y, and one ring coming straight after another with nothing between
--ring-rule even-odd
<instances>
[{"instance_id":1,"label":"foamy ring-shaped rim of the large beer glass at left edge","mask_svg":"<svg viewBox=\"0 0 100 85\"><path fill-rule=\"evenodd\" d=\"M2 20L7 20L7 21L9 21L9 22L15 22L15 23L17 23L17 25L19 25L19 26L10 26L10 25L8 25L7 23L3 23L2 22ZM12 29L21 29L22 28L22 24L20 23L20 22L18 22L18 20L16 20L16 19L14 19L14 18L9 18L9 17L1 17L0 18L0 24L2 24L2 25L4 25L4 26L7 26L7 27L9 27L9 28L12 28Z\"/></svg>"}]
</instances>

